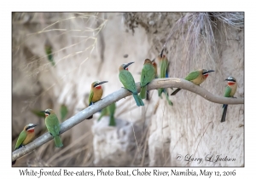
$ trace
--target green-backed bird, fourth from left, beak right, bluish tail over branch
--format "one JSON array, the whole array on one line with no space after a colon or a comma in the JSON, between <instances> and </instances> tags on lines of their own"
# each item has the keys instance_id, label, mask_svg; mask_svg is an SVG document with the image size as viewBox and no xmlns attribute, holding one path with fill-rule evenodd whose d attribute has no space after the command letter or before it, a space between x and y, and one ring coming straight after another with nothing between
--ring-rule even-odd
<instances>
[{"instance_id":1,"label":"green-backed bird, fourth from left, beak right, bluish tail over branch","mask_svg":"<svg viewBox=\"0 0 256 179\"><path fill-rule=\"evenodd\" d=\"M125 63L119 66L119 80L124 85L126 90L129 90L138 107L144 106L144 103L139 95L137 95L137 86L135 84L134 78L131 75L131 72L128 71L128 66L134 62Z\"/></svg>"}]
</instances>

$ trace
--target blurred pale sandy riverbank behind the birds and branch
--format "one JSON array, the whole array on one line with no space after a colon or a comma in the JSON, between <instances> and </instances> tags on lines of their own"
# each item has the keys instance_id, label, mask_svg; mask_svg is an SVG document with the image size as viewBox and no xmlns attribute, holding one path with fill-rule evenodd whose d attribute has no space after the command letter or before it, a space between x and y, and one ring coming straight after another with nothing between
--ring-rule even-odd
<instances>
[{"instance_id":1,"label":"blurred pale sandy riverbank behind the birds and branch","mask_svg":"<svg viewBox=\"0 0 256 179\"><path fill-rule=\"evenodd\" d=\"M102 98L119 90L118 68L131 61L139 82L143 61L156 59L164 47L170 77L211 69L202 88L224 95L224 79L233 76L235 96L244 97L243 13L13 13L12 151L26 124L40 124L36 137L47 131L38 111L52 108L62 123L88 107L92 82L108 81ZM157 90L144 107L132 96L121 99L115 126L96 113L61 135L64 147L49 141L15 166L244 165L244 105L230 105L220 123L220 104L187 90L169 99L173 106ZM184 160L207 154L236 160Z\"/></svg>"}]
</instances>

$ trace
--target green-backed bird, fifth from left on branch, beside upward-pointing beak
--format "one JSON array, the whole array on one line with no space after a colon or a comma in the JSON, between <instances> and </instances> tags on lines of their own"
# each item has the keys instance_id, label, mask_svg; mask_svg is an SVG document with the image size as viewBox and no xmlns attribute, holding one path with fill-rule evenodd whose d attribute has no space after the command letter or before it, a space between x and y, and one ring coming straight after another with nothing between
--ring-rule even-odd
<instances>
[{"instance_id":1,"label":"green-backed bird, fifth from left on branch, beside upward-pointing beak","mask_svg":"<svg viewBox=\"0 0 256 179\"><path fill-rule=\"evenodd\" d=\"M146 59L144 61L143 70L141 74L141 92L140 97L142 99L146 98L147 94L147 85L155 78L155 70L152 65L152 61Z\"/></svg>"}]
</instances>

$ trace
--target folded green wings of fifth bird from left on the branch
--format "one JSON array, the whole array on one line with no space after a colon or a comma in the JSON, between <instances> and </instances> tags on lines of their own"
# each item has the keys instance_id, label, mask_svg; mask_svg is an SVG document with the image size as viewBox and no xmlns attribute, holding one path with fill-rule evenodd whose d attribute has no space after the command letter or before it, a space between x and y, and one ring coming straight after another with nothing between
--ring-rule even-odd
<instances>
[{"instance_id":1,"label":"folded green wings of fifth bird from left on the branch","mask_svg":"<svg viewBox=\"0 0 256 179\"><path fill-rule=\"evenodd\" d=\"M154 66L146 64L143 66L141 75L141 86L149 84L154 79Z\"/></svg>"}]
</instances>

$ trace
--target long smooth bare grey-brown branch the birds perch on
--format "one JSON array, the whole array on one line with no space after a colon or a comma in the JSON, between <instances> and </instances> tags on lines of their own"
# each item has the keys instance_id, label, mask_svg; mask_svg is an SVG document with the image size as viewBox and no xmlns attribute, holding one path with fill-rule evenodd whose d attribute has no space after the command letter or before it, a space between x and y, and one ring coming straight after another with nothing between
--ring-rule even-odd
<instances>
[{"instance_id":1,"label":"long smooth bare grey-brown branch the birds perch on","mask_svg":"<svg viewBox=\"0 0 256 179\"><path fill-rule=\"evenodd\" d=\"M192 84L191 82L184 80L182 78L158 78L154 79L150 84L148 84L148 90L156 90L160 88L181 88L184 90L189 90L197 95L201 95L207 101L212 101L219 104L244 104L244 99L236 99L236 98L226 98L219 95L212 95L207 90ZM139 83L137 83L137 91L140 91ZM131 95L128 90L121 89L118 91L113 92L112 94L106 96L101 101L97 101L94 105L85 108L83 111L75 114L72 118L68 118L61 124L61 134L69 129L71 129L76 124L81 123L84 121L85 118L90 117L92 114L97 113L104 107L108 107L108 105L112 104L115 101L119 101L120 99ZM173 96L175 97L175 96ZM37 147L42 146L47 141L53 139L53 136L49 135L49 132L44 134L43 136L39 136L34 141L27 144L25 147L21 147L15 150L12 153L12 161L15 159L19 159L26 153L32 152Z\"/></svg>"}]
</instances>

